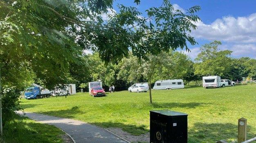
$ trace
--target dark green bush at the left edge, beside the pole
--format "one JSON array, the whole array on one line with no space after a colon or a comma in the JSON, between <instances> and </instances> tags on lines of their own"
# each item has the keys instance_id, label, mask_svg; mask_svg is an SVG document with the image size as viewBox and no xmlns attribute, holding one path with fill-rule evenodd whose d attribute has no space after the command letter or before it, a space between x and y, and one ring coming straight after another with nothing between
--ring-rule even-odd
<instances>
[{"instance_id":1,"label":"dark green bush at the left edge, beside the pole","mask_svg":"<svg viewBox=\"0 0 256 143\"><path fill-rule=\"evenodd\" d=\"M2 121L12 119L14 112L20 110L20 93L16 87L4 86L2 88Z\"/></svg>"}]
</instances>

